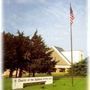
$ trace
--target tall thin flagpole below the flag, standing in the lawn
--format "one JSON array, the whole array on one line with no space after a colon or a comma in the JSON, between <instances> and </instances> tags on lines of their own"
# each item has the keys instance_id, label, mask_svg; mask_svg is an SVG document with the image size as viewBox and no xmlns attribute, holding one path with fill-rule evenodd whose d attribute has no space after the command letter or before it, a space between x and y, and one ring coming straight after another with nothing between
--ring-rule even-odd
<instances>
[{"instance_id":1,"label":"tall thin flagpole below the flag, standing in the lawn","mask_svg":"<svg viewBox=\"0 0 90 90\"><path fill-rule=\"evenodd\" d=\"M73 78L73 42L72 42L72 23L70 23L70 41L71 41L71 77L72 77L72 86L74 83Z\"/></svg>"}]
</instances>

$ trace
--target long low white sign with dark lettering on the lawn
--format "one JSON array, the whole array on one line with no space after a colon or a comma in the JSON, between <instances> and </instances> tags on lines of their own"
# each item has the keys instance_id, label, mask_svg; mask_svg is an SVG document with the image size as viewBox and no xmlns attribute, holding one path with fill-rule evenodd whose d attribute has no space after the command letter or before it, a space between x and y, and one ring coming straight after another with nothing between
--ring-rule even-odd
<instances>
[{"instance_id":1,"label":"long low white sign with dark lettering on the lawn","mask_svg":"<svg viewBox=\"0 0 90 90\"><path fill-rule=\"evenodd\" d=\"M53 77L30 77L30 78L12 78L12 89L23 88L24 83L35 83L35 82L45 82L45 84L52 84Z\"/></svg>"}]
</instances>

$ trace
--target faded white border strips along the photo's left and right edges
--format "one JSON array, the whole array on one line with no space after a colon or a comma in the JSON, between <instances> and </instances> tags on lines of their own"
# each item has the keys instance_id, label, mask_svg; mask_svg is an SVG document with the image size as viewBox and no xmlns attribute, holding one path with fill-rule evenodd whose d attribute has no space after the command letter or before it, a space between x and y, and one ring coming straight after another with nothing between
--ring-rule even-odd
<instances>
[{"instance_id":1,"label":"faded white border strips along the photo's left and right edges","mask_svg":"<svg viewBox=\"0 0 90 90\"><path fill-rule=\"evenodd\" d=\"M3 84L2 84L2 37L1 37L1 33L2 33L2 16L3 16L3 0L0 0L0 90L2 90ZM88 18L87 18L87 54L88 56L90 56L90 0L87 0L87 7L86 9L88 9ZM90 90L90 58L88 59L88 90Z\"/></svg>"}]
</instances>

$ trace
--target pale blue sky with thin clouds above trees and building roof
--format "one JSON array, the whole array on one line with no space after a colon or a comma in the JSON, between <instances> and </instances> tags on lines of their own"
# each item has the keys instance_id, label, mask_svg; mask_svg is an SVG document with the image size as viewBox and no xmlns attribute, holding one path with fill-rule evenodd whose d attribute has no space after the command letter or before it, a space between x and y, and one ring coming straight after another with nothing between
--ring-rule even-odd
<instances>
[{"instance_id":1,"label":"pale blue sky with thin clouds above trees and building roof","mask_svg":"<svg viewBox=\"0 0 90 90\"><path fill-rule=\"evenodd\" d=\"M3 30L20 30L31 37L37 29L49 47L70 50L70 3L75 17L73 50L87 55L86 0L3 0Z\"/></svg>"}]
</instances>

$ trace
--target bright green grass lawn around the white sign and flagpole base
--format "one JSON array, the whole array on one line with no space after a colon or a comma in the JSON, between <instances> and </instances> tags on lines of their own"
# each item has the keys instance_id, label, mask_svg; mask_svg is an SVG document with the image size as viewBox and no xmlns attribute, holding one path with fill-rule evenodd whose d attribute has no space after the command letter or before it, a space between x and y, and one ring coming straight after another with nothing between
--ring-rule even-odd
<instances>
[{"instance_id":1,"label":"bright green grass lawn around the white sign and flagpole base","mask_svg":"<svg viewBox=\"0 0 90 90\"><path fill-rule=\"evenodd\" d=\"M12 90L10 78L4 78L3 83L4 90ZM87 79L74 77L74 86L72 87L70 77L59 77L51 85L28 85L21 90L87 90Z\"/></svg>"}]
</instances>

